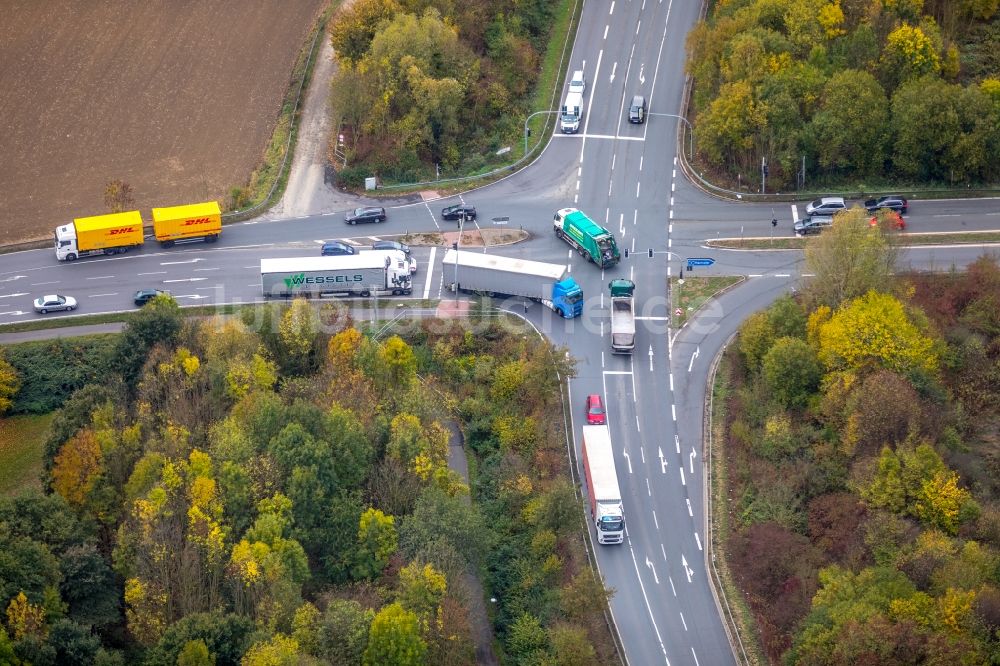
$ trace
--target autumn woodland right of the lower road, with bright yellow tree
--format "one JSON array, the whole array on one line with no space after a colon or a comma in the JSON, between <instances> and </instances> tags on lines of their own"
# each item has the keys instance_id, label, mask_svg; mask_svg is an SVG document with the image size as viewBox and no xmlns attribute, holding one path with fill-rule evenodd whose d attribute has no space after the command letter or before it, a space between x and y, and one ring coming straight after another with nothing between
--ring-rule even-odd
<instances>
[{"instance_id":1,"label":"autumn woodland right of the lower road, with bright yellow tree","mask_svg":"<svg viewBox=\"0 0 1000 666\"><path fill-rule=\"evenodd\" d=\"M865 218L728 354L729 565L774 663L996 663L1000 265L831 288L891 252Z\"/></svg>"}]
</instances>

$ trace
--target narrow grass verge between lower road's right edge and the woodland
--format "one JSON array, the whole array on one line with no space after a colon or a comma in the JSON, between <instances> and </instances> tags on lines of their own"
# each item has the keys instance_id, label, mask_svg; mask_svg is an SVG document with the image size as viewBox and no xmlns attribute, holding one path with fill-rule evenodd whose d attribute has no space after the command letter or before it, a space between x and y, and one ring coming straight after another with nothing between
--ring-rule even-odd
<instances>
[{"instance_id":1,"label":"narrow grass verge between lower road's right edge and the woodland","mask_svg":"<svg viewBox=\"0 0 1000 666\"><path fill-rule=\"evenodd\" d=\"M725 620L739 633L739 645L746 653L747 663L752 666L762 666L768 663L763 648L760 645L760 632L750 607L746 603L733 580L729 569L726 544L729 542L729 456L726 451L726 408L729 400L729 361L723 356L712 384L712 479L709 492L712 493L712 555L715 570L718 574L717 583L721 584L720 595L725 597L723 608L730 611L725 614Z\"/></svg>"}]
</instances>

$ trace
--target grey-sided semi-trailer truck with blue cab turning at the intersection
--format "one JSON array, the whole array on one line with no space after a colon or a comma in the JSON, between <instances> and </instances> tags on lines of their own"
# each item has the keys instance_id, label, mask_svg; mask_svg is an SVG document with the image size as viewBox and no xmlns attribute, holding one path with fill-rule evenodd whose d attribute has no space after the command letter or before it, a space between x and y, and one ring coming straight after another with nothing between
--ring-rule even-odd
<instances>
[{"instance_id":1,"label":"grey-sided semi-trailer truck with blue cab turning at the intersection","mask_svg":"<svg viewBox=\"0 0 1000 666\"><path fill-rule=\"evenodd\" d=\"M444 279L453 280L449 284L453 291L521 296L566 319L583 313L583 290L560 264L462 250L448 250L442 263Z\"/></svg>"}]
</instances>

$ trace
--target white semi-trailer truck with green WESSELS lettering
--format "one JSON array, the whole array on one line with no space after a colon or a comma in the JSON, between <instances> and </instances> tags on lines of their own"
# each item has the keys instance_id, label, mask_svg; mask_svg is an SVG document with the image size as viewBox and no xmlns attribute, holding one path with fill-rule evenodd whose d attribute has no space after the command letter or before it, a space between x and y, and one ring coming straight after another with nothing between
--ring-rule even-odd
<instances>
[{"instance_id":1,"label":"white semi-trailer truck with green WESSELS lettering","mask_svg":"<svg viewBox=\"0 0 1000 666\"><path fill-rule=\"evenodd\" d=\"M265 297L284 298L373 293L398 296L412 292L410 264L398 251L261 259L260 285Z\"/></svg>"}]
</instances>

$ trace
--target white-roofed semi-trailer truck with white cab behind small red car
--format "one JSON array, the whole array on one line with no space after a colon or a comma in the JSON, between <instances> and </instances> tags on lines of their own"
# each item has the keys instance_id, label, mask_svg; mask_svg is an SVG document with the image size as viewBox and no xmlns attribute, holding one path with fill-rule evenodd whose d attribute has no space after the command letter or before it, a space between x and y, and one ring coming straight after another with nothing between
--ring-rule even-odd
<instances>
[{"instance_id":1,"label":"white-roofed semi-trailer truck with white cab behind small red car","mask_svg":"<svg viewBox=\"0 0 1000 666\"><path fill-rule=\"evenodd\" d=\"M625 513L608 426L583 426L583 470L597 543L625 540Z\"/></svg>"}]
</instances>

